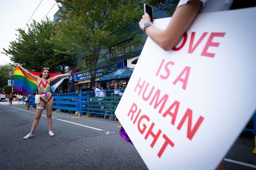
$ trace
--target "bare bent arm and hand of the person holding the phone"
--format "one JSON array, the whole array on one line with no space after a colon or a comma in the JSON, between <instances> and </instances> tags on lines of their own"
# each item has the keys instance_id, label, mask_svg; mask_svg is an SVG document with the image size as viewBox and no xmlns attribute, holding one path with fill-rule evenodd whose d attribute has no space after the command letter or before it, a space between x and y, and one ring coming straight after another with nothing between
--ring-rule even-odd
<instances>
[{"instance_id":1,"label":"bare bent arm and hand of the person holding the phone","mask_svg":"<svg viewBox=\"0 0 256 170\"><path fill-rule=\"evenodd\" d=\"M198 11L202 7L202 2L198 0L188 1L187 4L181 5L173 13L172 19L165 30L160 30L154 25L144 28L144 23L151 22L148 13L142 16L139 22L140 28L165 51L171 50L181 39L182 35L189 28L195 19Z\"/></svg>"}]
</instances>

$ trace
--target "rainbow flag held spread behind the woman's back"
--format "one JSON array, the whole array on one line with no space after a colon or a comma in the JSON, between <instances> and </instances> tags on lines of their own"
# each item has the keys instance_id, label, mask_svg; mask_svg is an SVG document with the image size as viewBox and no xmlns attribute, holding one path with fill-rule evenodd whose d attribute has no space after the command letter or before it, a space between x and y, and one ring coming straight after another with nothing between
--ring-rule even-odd
<instances>
[{"instance_id":1,"label":"rainbow flag held spread behind the woman's back","mask_svg":"<svg viewBox=\"0 0 256 170\"><path fill-rule=\"evenodd\" d=\"M34 75L39 76L40 72L34 72L29 71ZM59 75L57 73L50 73L50 78L54 77L56 75ZM51 88L52 90L56 90L56 88L60 85L61 82L65 79L65 76L63 78L59 78L55 80L54 82L51 82ZM33 79L30 75L26 74L23 70L21 70L18 66L15 66L14 71L14 91L15 92L21 92L23 95L28 95L31 92L38 91L37 87L37 81Z\"/></svg>"}]
</instances>

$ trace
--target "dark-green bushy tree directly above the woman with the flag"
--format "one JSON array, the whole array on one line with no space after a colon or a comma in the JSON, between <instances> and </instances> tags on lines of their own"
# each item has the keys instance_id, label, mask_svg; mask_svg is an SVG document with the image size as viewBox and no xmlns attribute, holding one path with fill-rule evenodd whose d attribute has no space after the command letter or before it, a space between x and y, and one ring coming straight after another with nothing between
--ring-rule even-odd
<instances>
[{"instance_id":1,"label":"dark-green bushy tree directly above the woman with the flag","mask_svg":"<svg viewBox=\"0 0 256 170\"><path fill-rule=\"evenodd\" d=\"M61 66L71 65L71 55L60 54L57 51L63 51L63 47L48 41L55 34L55 27L48 18L41 23L33 20L27 32L17 29L18 37L10 42L7 50L3 48L3 53L27 70L41 71L42 67L49 67L51 72L61 72Z\"/></svg>"}]
</instances>

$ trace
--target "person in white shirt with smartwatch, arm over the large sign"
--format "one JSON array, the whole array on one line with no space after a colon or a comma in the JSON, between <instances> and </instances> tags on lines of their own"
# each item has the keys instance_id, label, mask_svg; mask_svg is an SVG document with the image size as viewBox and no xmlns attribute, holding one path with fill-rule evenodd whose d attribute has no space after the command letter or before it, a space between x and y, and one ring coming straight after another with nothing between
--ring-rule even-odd
<instances>
[{"instance_id":1,"label":"person in white shirt with smartwatch, arm over the large sign","mask_svg":"<svg viewBox=\"0 0 256 170\"><path fill-rule=\"evenodd\" d=\"M163 50L172 50L192 24L197 13L230 9L233 0L180 0L165 30L154 27L148 13L139 22L140 28ZM154 21L153 21L154 22Z\"/></svg>"}]
</instances>

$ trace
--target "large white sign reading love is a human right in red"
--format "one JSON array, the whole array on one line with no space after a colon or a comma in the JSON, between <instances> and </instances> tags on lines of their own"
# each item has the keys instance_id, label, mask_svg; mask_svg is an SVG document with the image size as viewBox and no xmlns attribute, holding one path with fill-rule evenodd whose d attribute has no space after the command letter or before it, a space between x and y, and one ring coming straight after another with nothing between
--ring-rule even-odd
<instances>
[{"instance_id":1,"label":"large white sign reading love is a human right in red","mask_svg":"<svg viewBox=\"0 0 256 170\"><path fill-rule=\"evenodd\" d=\"M200 14L168 52L147 39L116 115L149 169L215 169L225 157L256 108L255 14Z\"/></svg>"}]
</instances>

